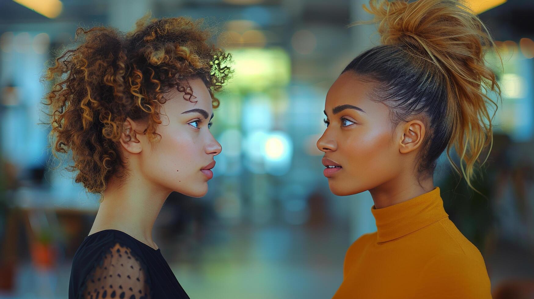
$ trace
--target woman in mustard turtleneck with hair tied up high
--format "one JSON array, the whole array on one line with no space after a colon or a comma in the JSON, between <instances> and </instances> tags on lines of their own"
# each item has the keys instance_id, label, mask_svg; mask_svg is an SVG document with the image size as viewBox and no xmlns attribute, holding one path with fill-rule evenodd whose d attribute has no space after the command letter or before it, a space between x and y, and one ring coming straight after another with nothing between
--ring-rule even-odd
<instances>
[{"instance_id":1,"label":"woman in mustard turtleneck with hair tied up high","mask_svg":"<svg viewBox=\"0 0 534 299\"><path fill-rule=\"evenodd\" d=\"M494 43L461 1L371 0L364 9L381 44L329 89L317 147L334 194L370 191L377 231L348 249L334 298L491 298L484 259L445 213L433 173L445 149L469 186L483 164L490 93L500 95L484 64Z\"/></svg>"}]
</instances>

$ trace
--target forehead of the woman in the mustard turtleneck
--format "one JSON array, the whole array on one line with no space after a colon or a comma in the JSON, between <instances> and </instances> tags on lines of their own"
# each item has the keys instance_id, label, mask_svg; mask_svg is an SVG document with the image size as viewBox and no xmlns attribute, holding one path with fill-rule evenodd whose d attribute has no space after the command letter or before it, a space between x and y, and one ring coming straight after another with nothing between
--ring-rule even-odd
<instances>
[{"instance_id":1,"label":"forehead of the woman in the mustard turtleneck","mask_svg":"<svg viewBox=\"0 0 534 299\"><path fill-rule=\"evenodd\" d=\"M325 107L332 109L339 105L350 104L358 106L367 112L371 106L376 105L371 100L371 92L374 86L375 83L373 82L365 82L360 80L358 75L345 72L337 78L328 90ZM332 111L328 113L330 112Z\"/></svg>"}]
</instances>

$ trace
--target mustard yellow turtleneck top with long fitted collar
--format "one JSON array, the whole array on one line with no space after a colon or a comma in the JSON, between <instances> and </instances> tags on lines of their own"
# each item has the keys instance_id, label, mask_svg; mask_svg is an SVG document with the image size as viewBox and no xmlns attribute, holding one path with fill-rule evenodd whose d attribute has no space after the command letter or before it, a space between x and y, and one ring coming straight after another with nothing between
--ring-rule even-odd
<instances>
[{"instance_id":1,"label":"mustard yellow turtleneck top with long fitted collar","mask_svg":"<svg viewBox=\"0 0 534 299\"><path fill-rule=\"evenodd\" d=\"M491 298L480 251L449 220L439 187L382 209L347 251L333 299Z\"/></svg>"}]
</instances>

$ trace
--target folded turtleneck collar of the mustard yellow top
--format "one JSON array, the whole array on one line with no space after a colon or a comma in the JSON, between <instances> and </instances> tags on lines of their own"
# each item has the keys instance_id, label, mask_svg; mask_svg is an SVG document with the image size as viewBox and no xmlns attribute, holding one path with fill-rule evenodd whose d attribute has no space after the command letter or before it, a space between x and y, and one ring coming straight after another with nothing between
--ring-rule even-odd
<instances>
[{"instance_id":1,"label":"folded turtleneck collar of the mustard yellow top","mask_svg":"<svg viewBox=\"0 0 534 299\"><path fill-rule=\"evenodd\" d=\"M439 187L382 209L371 207L378 242L394 240L449 216L443 209Z\"/></svg>"}]
</instances>

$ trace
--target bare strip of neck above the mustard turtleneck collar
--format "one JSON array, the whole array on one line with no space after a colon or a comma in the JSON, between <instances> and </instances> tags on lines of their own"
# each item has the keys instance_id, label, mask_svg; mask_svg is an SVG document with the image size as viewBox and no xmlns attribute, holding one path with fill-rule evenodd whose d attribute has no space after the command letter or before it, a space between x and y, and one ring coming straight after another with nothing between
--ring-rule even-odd
<instances>
[{"instance_id":1,"label":"bare strip of neck above the mustard turtleneck collar","mask_svg":"<svg viewBox=\"0 0 534 299\"><path fill-rule=\"evenodd\" d=\"M418 181L415 176L411 175L398 176L394 180L369 190L369 192L373 197L375 209L381 209L430 192L433 188L434 179L431 176Z\"/></svg>"}]
</instances>

